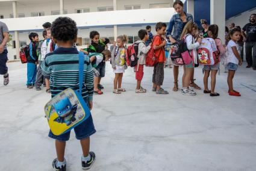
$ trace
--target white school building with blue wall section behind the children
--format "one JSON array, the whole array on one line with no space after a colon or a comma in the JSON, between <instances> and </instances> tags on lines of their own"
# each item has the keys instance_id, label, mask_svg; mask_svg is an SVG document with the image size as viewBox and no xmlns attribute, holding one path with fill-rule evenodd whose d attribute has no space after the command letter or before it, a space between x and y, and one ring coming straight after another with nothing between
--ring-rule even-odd
<instances>
[{"instance_id":1,"label":"white school building with blue wall section behind the children","mask_svg":"<svg viewBox=\"0 0 256 171\"><path fill-rule=\"evenodd\" d=\"M113 42L118 35L128 35L129 42L139 39L137 31L151 25L155 33L155 23L168 23L175 14L172 8L175 0L0 0L0 21L7 24L11 41L8 43L9 60L19 60L19 49L30 40L28 34L33 31L42 39L42 24L52 22L59 16L68 16L78 26L78 46L90 43L89 33L97 30L101 37L108 37ZM240 0L234 0L241 2ZM207 19L220 27L220 38L224 37L224 27L232 20L244 22L250 13L255 13L255 0L249 0L246 8L236 10L226 18L227 5L232 0L183 0L185 10L192 13L195 21ZM252 3L251 3L252 2ZM203 11L201 7L205 7Z\"/></svg>"}]
</instances>

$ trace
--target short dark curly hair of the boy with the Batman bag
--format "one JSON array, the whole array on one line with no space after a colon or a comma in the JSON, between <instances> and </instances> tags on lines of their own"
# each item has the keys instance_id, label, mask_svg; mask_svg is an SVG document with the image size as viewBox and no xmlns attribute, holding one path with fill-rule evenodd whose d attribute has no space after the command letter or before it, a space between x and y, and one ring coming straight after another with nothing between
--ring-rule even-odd
<instances>
[{"instance_id":1,"label":"short dark curly hair of the boy with the Batman bag","mask_svg":"<svg viewBox=\"0 0 256 171\"><path fill-rule=\"evenodd\" d=\"M51 34L54 39L63 42L75 40L77 36L76 23L69 17L58 17L52 22Z\"/></svg>"}]
</instances>

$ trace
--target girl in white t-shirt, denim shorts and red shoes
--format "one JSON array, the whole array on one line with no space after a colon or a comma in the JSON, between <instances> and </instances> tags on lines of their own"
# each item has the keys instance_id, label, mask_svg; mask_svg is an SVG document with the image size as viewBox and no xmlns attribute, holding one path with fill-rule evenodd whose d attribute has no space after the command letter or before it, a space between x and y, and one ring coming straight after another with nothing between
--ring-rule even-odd
<instances>
[{"instance_id":1,"label":"girl in white t-shirt, denim shorts and red shoes","mask_svg":"<svg viewBox=\"0 0 256 171\"><path fill-rule=\"evenodd\" d=\"M228 42L228 56L227 56L227 63L228 63L228 94L230 96L241 96L239 92L233 89L233 78L236 73L238 65L242 65L242 58L237 51L238 45L237 41L240 40L241 32L238 28L233 28L229 31L229 36L231 40Z\"/></svg>"}]
</instances>

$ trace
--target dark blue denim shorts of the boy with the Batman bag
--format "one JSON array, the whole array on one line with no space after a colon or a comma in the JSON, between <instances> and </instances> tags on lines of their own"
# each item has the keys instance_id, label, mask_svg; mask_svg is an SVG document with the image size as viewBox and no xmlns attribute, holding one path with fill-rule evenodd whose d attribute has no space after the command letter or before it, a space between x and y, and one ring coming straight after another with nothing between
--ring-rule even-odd
<instances>
[{"instance_id":1,"label":"dark blue denim shorts of the boy with the Batman bag","mask_svg":"<svg viewBox=\"0 0 256 171\"><path fill-rule=\"evenodd\" d=\"M92 115L90 115L88 119L84 120L83 123L80 123L80 125L76 126L74 131L75 137L78 140L83 140L84 138L88 138L90 135L94 134L96 130L93 125ZM54 135L50 130L49 137L59 141L67 141L70 137L70 131L61 135Z\"/></svg>"}]
</instances>

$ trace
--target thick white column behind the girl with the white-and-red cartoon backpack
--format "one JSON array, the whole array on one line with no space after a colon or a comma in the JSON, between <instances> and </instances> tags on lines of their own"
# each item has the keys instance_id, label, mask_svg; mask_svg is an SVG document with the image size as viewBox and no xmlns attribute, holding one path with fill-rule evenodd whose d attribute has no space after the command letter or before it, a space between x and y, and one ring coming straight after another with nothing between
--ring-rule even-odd
<instances>
[{"instance_id":1,"label":"thick white column behind the girl with the white-and-red cartoon backpack","mask_svg":"<svg viewBox=\"0 0 256 171\"><path fill-rule=\"evenodd\" d=\"M226 23L226 0L210 1L211 24L219 26L218 37L225 43L225 23ZM224 66L220 64L220 71L224 72Z\"/></svg>"}]
</instances>

